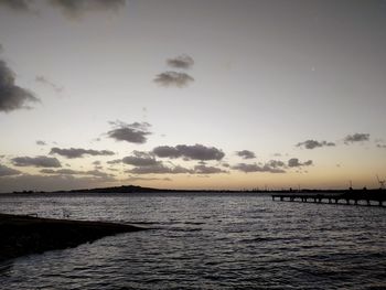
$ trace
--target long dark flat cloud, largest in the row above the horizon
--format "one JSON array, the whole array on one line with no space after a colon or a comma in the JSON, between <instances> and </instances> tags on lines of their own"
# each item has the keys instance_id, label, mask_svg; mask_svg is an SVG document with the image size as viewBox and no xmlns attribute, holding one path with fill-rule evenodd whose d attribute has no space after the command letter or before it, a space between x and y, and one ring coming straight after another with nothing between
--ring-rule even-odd
<instances>
[{"instance_id":1,"label":"long dark flat cloud, largest in the row above the horizon","mask_svg":"<svg viewBox=\"0 0 386 290\"><path fill-rule=\"evenodd\" d=\"M214 147L205 147L203 144L176 147L160 146L153 149L153 153L159 158L185 158L189 160L222 160L224 152Z\"/></svg>"}]
</instances>

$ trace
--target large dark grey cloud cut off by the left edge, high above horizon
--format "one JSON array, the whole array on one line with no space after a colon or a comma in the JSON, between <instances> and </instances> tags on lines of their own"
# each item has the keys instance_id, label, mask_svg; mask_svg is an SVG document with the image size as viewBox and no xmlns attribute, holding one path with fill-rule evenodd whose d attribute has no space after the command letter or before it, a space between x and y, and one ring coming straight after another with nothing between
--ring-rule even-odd
<instances>
[{"instance_id":1,"label":"large dark grey cloud cut off by the left edge, high above horizon","mask_svg":"<svg viewBox=\"0 0 386 290\"><path fill-rule=\"evenodd\" d=\"M29 109L28 103L40 101L39 98L14 84L14 73L0 60L0 111Z\"/></svg>"}]
</instances>

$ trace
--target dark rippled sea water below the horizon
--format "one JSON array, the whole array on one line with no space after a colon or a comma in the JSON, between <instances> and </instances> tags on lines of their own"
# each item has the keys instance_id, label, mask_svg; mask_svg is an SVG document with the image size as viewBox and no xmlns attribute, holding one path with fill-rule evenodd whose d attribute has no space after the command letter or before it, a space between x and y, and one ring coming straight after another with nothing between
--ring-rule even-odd
<instances>
[{"instance_id":1,"label":"dark rippled sea water below the horizon","mask_svg":"<svg viewBox=\"0 0 386 290\"><path fill-rule=\"evenodd\" d=\"M1 196L0 212L151 228L0 264L0 289L386 289L385 207L181 193Z\"/></svg>"}]
</instances>

